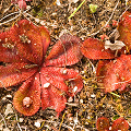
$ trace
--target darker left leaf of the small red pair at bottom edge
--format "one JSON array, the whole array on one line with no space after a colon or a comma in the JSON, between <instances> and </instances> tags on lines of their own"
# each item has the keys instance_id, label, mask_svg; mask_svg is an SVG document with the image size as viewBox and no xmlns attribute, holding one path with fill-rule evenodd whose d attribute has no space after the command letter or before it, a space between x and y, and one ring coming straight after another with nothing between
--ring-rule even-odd
<instances>
[{"instance_id":1,"label":"darker left leaf of the small red pair at bottom edge","mask_svg":"<svg viewBox=\"0 0 131 131\"><path fill-rule=\"evenodd\" d=\"M96 128L98 131L109 131L109 120L106 117L100 117L97 119Z\"/></svg>"}]
</instances>

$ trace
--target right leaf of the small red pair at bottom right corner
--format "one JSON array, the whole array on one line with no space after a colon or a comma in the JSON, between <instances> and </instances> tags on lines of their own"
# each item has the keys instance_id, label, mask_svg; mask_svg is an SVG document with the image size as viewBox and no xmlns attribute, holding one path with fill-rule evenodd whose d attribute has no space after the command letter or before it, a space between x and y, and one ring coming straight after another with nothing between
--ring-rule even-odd
<instances>
[{"instance_id":1,"label":"right leaf of the small red pair at bottom right corner","mask_svg":"<svg viewBox=\"0 0 131 131\"><path fill-rule=\"evenodd\" d=\"M124 120L124 118L120 117L114 121L111 126L111 131L128 131L129 123Z\"/></svg>"}]
</instances>

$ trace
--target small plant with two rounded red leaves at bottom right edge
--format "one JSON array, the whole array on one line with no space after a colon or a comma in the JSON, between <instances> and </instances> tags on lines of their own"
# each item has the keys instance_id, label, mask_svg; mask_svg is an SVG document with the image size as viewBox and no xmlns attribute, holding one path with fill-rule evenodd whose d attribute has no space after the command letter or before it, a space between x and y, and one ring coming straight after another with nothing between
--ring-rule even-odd
<instances>
[{"instance_id":1,"label":"small plant with two rounded red leaves at bottom right edge","mask_svg":"<svg viewBox=\"0 0 131 131\"><path fill-rule=\"evenodd\" d=\"M96 129L98 131L128 131L129 123L126 121L124 118L120 117L112 122L112 126L109 130L109 120L106 117L100 117L97 119Z\"/></svg>"}]
</instances>

